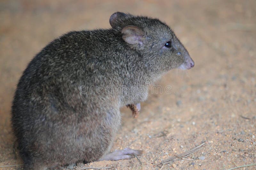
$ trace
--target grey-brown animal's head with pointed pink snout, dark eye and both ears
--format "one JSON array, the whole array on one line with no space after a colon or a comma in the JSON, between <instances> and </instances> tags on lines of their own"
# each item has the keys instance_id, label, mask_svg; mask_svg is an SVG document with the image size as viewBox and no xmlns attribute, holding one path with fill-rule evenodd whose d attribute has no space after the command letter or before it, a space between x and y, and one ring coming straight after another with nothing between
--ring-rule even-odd
<instances>
[{"instance_id":1,"label":"grey-brown animal's head with pointed pink snout, dark eye and both ears","mask_svg":"<svg viewBox=\"0 0 256 170\"><path fill-rule=\"evenodd\" d=\"M160 20L116 12L109 22L120 32L125 45L141 54L145 67L151 72L163 74L173 68L194 67L186 48Z\"/></svg>"}]
</instances>

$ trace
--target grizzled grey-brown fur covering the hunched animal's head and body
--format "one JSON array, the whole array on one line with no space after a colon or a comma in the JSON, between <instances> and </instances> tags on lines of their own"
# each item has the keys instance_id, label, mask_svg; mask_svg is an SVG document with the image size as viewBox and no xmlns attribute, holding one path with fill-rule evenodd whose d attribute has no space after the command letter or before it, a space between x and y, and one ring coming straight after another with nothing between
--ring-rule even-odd
<instances>
[{"instance_id":1,"label":"grizzled grey-brown fur covering the hunched animal's head and body","mask_svg":"<svg viewBox=\"0 0 256 170\"><path fill-rule=\"evenodd\" d=\"M117 12L110 24L111 29L73 31L54 39L23 72L12 126L25 169L140 155L129 148L120 157L121 152L108 154L120 126L120 108L145 101L148 85L172 68L194 66L179 39L158 19ZM167 41L172 47L164 47ZM81 87L94 88L81 93ZM115 93L99 93L96 87L112 87Z\"/></svg>"}]
</instances>

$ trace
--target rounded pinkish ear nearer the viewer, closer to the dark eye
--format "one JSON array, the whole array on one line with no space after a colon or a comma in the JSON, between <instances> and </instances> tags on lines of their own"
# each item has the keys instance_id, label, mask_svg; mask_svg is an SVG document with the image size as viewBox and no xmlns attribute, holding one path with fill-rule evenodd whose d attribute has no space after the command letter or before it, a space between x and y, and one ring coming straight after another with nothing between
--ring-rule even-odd
<instances>
[{"instance_id":1,"label":"rounded pinkish ear nearer the viewer, closer to the dark eye","mask_svg":"<svg viewBox=\"0 0 256 170\"><path fill-rule=\"evenodd\" d=\"M128 25L122 29L122 38L128 44L143 45L144 32L137 26Z\"/></svg>"}]
</instances>

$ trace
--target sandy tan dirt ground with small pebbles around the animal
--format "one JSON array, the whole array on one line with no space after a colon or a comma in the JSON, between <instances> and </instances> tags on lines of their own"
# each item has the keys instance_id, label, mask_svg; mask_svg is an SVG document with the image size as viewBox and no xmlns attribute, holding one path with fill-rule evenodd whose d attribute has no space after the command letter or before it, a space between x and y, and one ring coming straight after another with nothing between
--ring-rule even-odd
<instances>
[{"instance_id":1,"label":"sandy tan dirt ground with small pebbles around the animal","mask_svg":"<svg viewBox=\"0 0 256 170\"><path fill-rule=\"evenodd\" d=\"M172 70L156 84L137 119L122 109L112 151L144 150L138 159L81 167L160 169L154 164L203 148L162 169L229 169L256 163L256 1L25 1L0 2L0 166L20 165L13 152L10 109L16 83L32 57L71 30L109 28L112 13L160 18L174 30L195 67ZM17 169L20 166L3 169ZM255 169L256 166L244 169ZM0 167L1 169L1 167ZM243 168L241 168L243 169Z\"/></svg>"}]
</instances>

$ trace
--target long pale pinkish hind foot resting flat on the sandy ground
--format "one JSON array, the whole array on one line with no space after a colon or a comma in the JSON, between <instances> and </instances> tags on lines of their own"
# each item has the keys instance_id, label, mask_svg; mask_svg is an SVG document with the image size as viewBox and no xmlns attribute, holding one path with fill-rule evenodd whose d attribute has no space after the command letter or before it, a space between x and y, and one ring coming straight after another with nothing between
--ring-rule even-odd
<instances>
[{"instance_id":1,"label":"long pale pinkish hind foot resting flat on the sandy ground","mask_svg":"<svg viewBox=\"0 0 256 170\"><path fill-rule=\"evenodd\" d=\"M107 155L101 157L100 160L120 160L120 159L131 159L134 155L141 155L143 151L133 150L131 148L125 148L123 150L116 150L114 152L108 153Z\"/></svg>"}]
</instances>

